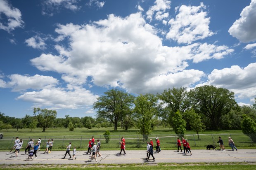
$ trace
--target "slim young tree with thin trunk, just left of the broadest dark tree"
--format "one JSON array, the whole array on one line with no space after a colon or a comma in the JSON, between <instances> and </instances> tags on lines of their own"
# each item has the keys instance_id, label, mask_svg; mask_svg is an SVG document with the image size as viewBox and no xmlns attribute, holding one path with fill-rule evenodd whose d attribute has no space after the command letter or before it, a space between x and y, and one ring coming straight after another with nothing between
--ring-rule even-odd
<instances>
[{"instance_id":1,"label":"slim young tree with thin trunk, just left of the broadest dark tree","mask_svg":"<svg viewBox=\"0 0 256 170\"><path fill-rule=\"evenodd\" d=\"M194 109L186 110L185 114L191 120L190 121L191 129L195 133L197 133L198 140L200 140L199 132L202 132L205 129L205 125L204 125L204 123L201 122L200 116L194 111Z\"/></svg>"}]
</instances>

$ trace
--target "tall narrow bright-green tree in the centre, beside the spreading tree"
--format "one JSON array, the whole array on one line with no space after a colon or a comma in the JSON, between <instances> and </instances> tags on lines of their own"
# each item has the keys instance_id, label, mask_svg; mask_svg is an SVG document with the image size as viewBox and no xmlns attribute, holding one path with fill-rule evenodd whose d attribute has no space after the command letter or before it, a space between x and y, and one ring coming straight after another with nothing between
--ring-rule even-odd
<instances>
[{"instance_id":1,"label":"tall narrow bright-green tree in the centre, beside the spreading tree","mask_svg":"<svg viewBox=\"0 0 256 170\"><path fill-rule=\"evenodd\" d=\"M143 135L143 142L147 140L148 135L154 130L153 116L157 111L158 98L153 94L139 95L134 101L135 107L133 109L137 128L139 133Z\"/></svg>"}]
</instances>

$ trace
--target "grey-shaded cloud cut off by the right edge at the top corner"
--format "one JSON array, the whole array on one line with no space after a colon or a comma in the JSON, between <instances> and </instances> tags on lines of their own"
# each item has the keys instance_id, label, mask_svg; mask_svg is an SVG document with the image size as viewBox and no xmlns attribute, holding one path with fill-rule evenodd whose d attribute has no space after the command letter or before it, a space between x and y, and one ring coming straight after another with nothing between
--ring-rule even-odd
<instances>
[{"instance_id":1,"label":"grey-shaded cloud cut off by the right edge at the top corner","mask_svg":"<svg viewBox=\"0 0 256 170\"><path fill-rule=\"evenodd\" d=\"M240 18L230 27L228 32L241 42L256 41L256 0L251 0L249 6L245 7Z\"/></svg>"}]
</instances>

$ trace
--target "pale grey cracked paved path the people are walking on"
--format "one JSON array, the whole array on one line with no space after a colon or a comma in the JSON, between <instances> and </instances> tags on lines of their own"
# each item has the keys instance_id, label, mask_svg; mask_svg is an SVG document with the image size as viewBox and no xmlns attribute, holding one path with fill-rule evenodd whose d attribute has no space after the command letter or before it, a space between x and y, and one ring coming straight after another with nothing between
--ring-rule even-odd
<instances>
[{"instance_id":1,"label":"pale grey cracked paved path the people are walking on","mask_svg":"<svg viewBox=\"0 0 256 170\"><path fill-rule=\"evenodd\" d=\"M52 151L50 154L43 154L43 151L38 153L38 159L27 161L27 155L24 151L19 153L16 158L15 154L10 155L7 152L0 152L0 164L123 164L123 163L217 163L217 162L254 162L256 163L256 149L238 149L238 151L231 151L231 149L220 150L192 150L190 154L184 155L175 150L162 150L159 154L154 154L156 162L149 162L145 160L146 151L126 151L126 156L123 154L118 156L118 151L101 151L102 159L89 161L90 155L85 154L86 151L76 151L76 160L69 159L69 156L64 157L65 151ZM73 151L70 151L72 156ZM34 157L35 158L35 157Z\"/></svg>"}]
</instances>

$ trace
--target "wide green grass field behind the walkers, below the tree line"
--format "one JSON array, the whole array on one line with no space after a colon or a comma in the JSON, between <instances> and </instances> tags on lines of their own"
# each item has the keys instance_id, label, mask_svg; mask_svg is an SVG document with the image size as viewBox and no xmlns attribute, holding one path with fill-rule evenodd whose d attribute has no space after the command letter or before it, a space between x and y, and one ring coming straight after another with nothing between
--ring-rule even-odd
<instances>
[{"instance_id":1,"label":"wide green grass field behind the walkers, below the tree line","mask_svg":"<svg viewBox=\"0 0 256 170\"><path fill-rule=\"evenodd\" d=\"M110 131L111 139L109 143L105 142L103 133L105 130ZM45 132L42 132L41 128L33 129L32 132L30 129L9 129L1 130L1 133L4 133L4 139L0 140L0 149L8 150L13 146L13 142L16 136L19 136L19 139L24 140L23 147L26 147L29 139L37 140L39 137L42 142L45 143L47 139L54 139L53 148L55 150L64 150L66 145L69 142L72 142L72 146L85 149L88 146L89 139L94 136L95 140L100 139L102 149L119 149L119 141L122 136L126 139L126 149L142 149L145 148L145 141L143 142L142 135L137 134L137 129L121 130L114 131L113 128L76 128L74 131L69 131L66 128L48 128ZM228 136L231 136L234 140L237 147L242 148L256 148L251 139L242 134L241 130L206 130L203 134L200 134L200 140L198 140L197 135L192 131L187 131L185 133L185 138L190 142L190 146L193 149L205 149L208 144L217 145L218 136L221 136L226 147L228 146ZM149 138L152 138L155 144L155 138L158 137L161 142L161 149L176 149L177 135L174 131L169 128L156 128L152 135L149 135ZM218 146L217 146L218 147ZM42 145L42 148L44 146Z\"/></svg>"}]
</instances>

